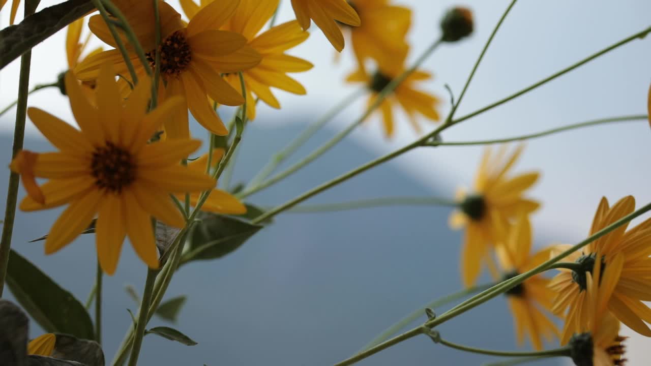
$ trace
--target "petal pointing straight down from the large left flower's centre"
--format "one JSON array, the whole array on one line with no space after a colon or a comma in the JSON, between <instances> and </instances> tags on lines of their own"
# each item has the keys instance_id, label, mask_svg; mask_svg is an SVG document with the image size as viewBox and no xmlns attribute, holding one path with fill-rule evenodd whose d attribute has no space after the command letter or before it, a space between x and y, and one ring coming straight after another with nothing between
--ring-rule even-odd
<instances>
[{"instance_id":1,"label":"petal pointing straight down from the large left flower's centre","mask_svg":"<svg viewBox=\"0 0 651 366\"><path fill-rule=\"evenodd\" d=\"M117 268L122 244L126 236L125 212L122 197L107 193L102 199L95 225L97 257L102 270L113 275Z\"/></svg>"}]
</instances>

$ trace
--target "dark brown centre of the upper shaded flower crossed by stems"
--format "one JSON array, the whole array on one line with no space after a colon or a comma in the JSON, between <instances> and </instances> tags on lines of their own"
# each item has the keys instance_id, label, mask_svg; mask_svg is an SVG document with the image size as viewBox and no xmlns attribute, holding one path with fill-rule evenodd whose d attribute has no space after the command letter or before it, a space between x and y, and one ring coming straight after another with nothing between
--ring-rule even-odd
<instances>
[{"instance_id":1,"label":"dark brown centre of the upper shaded flower crossed by stems","mask_svg":"<svg viewBox=\"0 0 651 366\"><path fill-rule=\"evenodd\" d=\"M176 31L165 38L159 46L161 53L161 74L165 76L176 76L186 69L192 60L190 45L187 43L183 31ZM152 68L156 67L156 52L146 53L147 61Z\"/></svg>"}]
</instances>

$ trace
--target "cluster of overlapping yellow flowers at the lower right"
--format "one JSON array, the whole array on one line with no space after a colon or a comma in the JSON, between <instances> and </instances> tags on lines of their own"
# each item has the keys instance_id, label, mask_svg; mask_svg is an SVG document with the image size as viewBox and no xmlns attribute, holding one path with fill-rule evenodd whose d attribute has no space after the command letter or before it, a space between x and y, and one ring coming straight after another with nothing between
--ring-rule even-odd
<instances>
[{"instance_id":1,"label":"cluster of overlapping yellow flowers at the lower right","mask_svg":"<svg viewBox=\"0 0 651 366\"><path fill-rule=\"evenodd\" d=\"M531 253L529 216L540 204L524 193L536 183L539 174L510 175L522 148L520 145L510 156L506 156L505 146L496 154L487 148L473 192L458 193L460 208L450 216L450 226L465 227L461 268L466 287L475 285L482 264L486 264L495 280L503 281L532 270L571 247L561 244ZM634 210L632 196L620 199L612 207L604 197L589 234ZM651 322L651 309L643 303L651 300L651 219L628 231L627 227L628 223L566 257L572 262L555 264L561 273L553 279L534 275L506 292L519 343L529 337L534 348L542 350L542 339L559 338L561 345L570 344L572 349L592 341L594 356L572 357L577 365L605 366L624 364L624 338L618 335L620 322L651 337L645 323ZM561 331L551 315L564 319ZM581 359L592 359L592 363L581 363Z\"/></svg>"}]
</instances>

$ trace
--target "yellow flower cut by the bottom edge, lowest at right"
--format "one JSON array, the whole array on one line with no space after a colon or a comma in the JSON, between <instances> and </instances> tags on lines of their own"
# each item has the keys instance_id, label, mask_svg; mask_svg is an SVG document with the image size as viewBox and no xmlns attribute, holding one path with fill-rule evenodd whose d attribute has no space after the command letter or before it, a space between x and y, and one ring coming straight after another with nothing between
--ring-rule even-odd
<instances>
[{"instance_id":1,"label":"yellow flower cut by the bottom edge, lowest at right","mask_svg":"<svg viewBox=\"0 0 651 366\"><path fill-rule=\"evenodd\" d=\"M592 366L622 366L626 363L623 358L625 346L622 342L626 337L620 336L620 322L607 311L607 303L613 294L613 281L608 281L609 269L602 272L603 266L595 263L592 274L586 274L586 307L579 317L576 332L568 343L570 355L576 365Z\"/></svg>"}]
</instances>

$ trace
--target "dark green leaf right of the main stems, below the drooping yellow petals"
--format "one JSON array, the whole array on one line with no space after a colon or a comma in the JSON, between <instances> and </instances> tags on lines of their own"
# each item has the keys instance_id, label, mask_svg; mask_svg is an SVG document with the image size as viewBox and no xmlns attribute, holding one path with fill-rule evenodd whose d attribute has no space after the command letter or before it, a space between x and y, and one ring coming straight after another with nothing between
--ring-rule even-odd
<instances>
[{"instance_id":1,"label":"dark green leaf right of the main stems, below the drooping yellow petals","mask_svg":"<svg viewBox=\"0 0 651 366\"><path fill-rule=\"evenodd\" d=\"M201 213L189 235L189 250L181 258L184 264L190 260L221 258L242 246L253 234L262 229L231 216Z\"/></svg>"}]
</instances>

